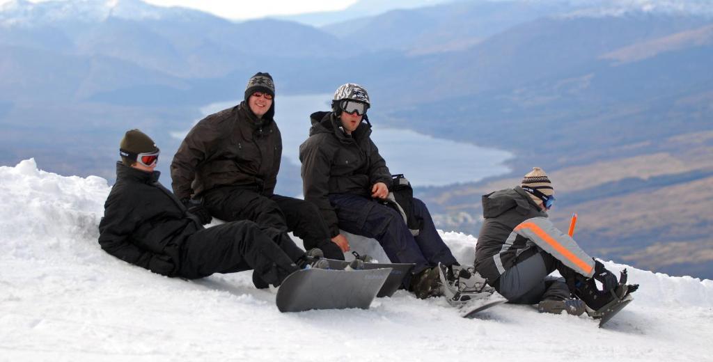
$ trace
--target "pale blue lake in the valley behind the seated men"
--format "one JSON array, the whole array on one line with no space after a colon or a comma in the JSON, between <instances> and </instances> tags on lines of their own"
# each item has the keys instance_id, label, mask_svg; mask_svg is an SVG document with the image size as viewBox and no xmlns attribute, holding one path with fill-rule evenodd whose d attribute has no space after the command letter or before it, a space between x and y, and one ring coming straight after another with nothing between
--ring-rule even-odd
<instances>
[{"instance_id":1,"label":"pale blue lake in the valley behind the seated men","mask_svg":"<svg viewBox=\"0 0 713 362\"><path fill-rule=\"evenodd\" d=\"M299 179L299 145L309 135L309 115L317 110L329 110L331 99L332 94L281 95L275 98L275 121L282 132L282 155L294 166L282 167L280 177ZM211 103L200 108L200 112L209 115L239 102ZM503 165L513 157L510 152L436 138L412 130L388 128L379 124L378 113L370 115L373 127L371 139L389 170L406 175L414 187L474 182L510 171ZM185 133L174 136L183 139ZM296 175L284 175L283 172L296 172Z\"/></svg>"}]
</instances>

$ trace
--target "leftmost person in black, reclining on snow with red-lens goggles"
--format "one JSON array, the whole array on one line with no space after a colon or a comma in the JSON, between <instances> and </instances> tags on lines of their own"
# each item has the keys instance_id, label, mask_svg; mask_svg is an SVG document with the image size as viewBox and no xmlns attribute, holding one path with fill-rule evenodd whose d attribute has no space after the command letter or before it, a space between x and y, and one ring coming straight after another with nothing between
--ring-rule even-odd
<instances>
[{"instance_id":1,"label":"leftmost person in black, reclining on snow with red-lens goggles","mask_svg":"<svg viewBox=\"0 0 713 362\"><path fill-rule=\"evenodd\" d=\"M297 245L279 234L268 237L254 222L203 228L158 182L159 150L140 130L125 134L119 153L116 184L99 223L99 244L109 254L188 279L254 269L254 279L275 286L306 263Z\"/></svg>"}]
</instances>

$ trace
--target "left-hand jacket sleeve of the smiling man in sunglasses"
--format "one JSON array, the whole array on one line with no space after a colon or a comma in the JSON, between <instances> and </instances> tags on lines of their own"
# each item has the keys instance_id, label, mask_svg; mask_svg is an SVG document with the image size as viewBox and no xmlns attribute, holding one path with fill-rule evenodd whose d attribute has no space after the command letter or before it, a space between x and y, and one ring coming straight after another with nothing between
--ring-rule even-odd
<instances>
[{"instance_id":1,"label":"left-hand jacket sleeve of the smiling man in sunglasses","mask_svg":"<svg viewBox=\"0 0 713 362\"><path fill-rule=\"evenodd\" d=\"M207 160L220 140L220 132L205 118L185 136L171 162L171 187L178 200L193 195L192 183L198 165Z\"/></svg>"}]
</instances>

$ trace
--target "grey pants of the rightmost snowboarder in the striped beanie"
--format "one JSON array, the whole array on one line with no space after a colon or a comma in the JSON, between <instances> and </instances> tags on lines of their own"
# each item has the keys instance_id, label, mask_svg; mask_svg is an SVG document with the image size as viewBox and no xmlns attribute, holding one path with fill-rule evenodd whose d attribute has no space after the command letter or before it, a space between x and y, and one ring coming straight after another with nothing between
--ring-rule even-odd
<instances>
[{"instance_id":1,"label":"grey pants of the rightmost snowboarder in the striped beanie","mask_svg":"<svg viewBox=\"0 0 713 362\"><path fill-rule=\"evenodd\" d=\"M540 251L506 270L498 279L496 290L513 304L567 299L570 289L565 279L548 276L559 264L550 254Z\"/></svg>"}]
</instances>

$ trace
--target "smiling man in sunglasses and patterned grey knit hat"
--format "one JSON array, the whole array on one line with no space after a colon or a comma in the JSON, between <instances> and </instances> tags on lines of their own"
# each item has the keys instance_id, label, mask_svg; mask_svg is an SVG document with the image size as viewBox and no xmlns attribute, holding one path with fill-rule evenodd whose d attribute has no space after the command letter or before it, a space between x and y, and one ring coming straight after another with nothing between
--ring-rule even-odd
<instances>
[{"instance_id":1,"label":"smiling man in sunglasses and patterned grey knit hat","mask_svg":"<svg viewBox=\"0 0 713 362\"><path fill-rule=\"evenodd\" d=\"M185 205L202 205L204 223L210 217L251 220L285 239L293 232L305 248L343 260L317 207L275 194L282 135L270 73L255 73L242 95L240 104L208 115L185 136L170 165L173 192Z\"/></svg>"}]
</instances>

